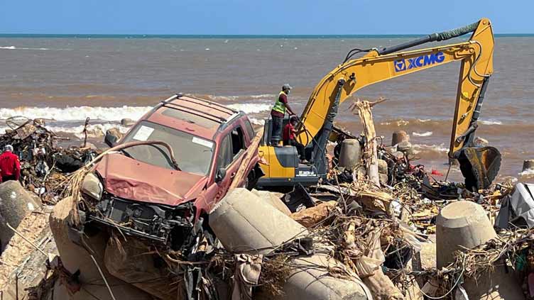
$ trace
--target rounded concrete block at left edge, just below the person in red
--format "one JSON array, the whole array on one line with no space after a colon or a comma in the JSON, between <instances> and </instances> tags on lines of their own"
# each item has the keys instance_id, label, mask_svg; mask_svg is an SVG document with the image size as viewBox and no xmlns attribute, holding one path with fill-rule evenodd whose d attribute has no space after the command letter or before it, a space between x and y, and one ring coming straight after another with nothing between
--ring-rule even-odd
<instances>
[{"instance_id":1,"label":"rounded concrete block at left edge, just below the person in red","mask_svg":"<svg viewBox=\"0 0 534 300\"><path fill-rule=\"evenodd\" d=\"M0 240L1 249L4 250L13 236L7 223L17 228L28 213L39 209L42 204L37 196L30 194L15 180L0 184Z\"/></svg>"}]
</instances>

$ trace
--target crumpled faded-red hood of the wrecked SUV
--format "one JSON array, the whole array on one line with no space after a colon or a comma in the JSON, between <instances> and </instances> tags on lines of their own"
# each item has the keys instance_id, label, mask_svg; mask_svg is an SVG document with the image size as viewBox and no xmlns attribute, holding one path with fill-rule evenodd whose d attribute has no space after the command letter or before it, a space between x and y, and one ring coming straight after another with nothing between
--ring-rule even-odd
<instances>
[{"instance_id":1,"label":"crumpled faded-red hood of the wrecked SUV","mask_svg":"<svg viewBox=\"0 0 534 300\"><path fill-rule=\"evenodd\" d=\"M207 177L146 164L119 153L105 155L96 167L104 189L135 201L176 206L195 199Z\"/></svg>"}]
</instances>

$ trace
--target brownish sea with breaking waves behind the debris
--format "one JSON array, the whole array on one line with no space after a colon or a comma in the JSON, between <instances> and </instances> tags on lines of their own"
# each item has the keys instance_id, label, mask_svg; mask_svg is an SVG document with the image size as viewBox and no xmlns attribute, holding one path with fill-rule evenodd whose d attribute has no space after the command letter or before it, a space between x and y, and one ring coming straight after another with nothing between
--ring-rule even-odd
<instances>
[{"instance_id":1,"label":"brownish sea with breaking waves behind the debris","mask_svg":"<svg viewBox=\"0 0 534 300\"><path fill-rule=\"evenodd\" d=\"M45 118L58 134L102 140L122 118L143 116L175 93L195 94L249 113L256 126L282 84L294 87L301 112L322 77L352 48L381 48L417 35L0 35L0 133L13 116ZM449 40L457 43L466 38ZM476 134L501 151L500 179L533 182L522 172L534 159L534 35L496 35L494 74ZM373 109L378 135L410 135L417 160L444 179L459 63L390 79L357 91L339 109L337 125L361 131L349 111L357 99L387 101ZM443 174L443 175L439 175ZM452 179L460 178L452 168Z\"/></svg>"}]
</instances>

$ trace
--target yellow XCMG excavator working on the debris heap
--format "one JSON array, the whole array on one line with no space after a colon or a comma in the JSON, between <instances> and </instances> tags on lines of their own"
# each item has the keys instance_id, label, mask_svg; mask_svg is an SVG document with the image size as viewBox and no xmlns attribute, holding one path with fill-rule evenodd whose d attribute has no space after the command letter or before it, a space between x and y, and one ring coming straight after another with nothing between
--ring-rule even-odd
<instances>
[{"instance_id":1,"label":"yellow XCMG excavator working on the debris heap","mask_svg":"<svg viewBox=\"0 0 534 300\"><path fill-rule=\"evenodd\" d=\"M425 43L440 42L472 33L469 40L452 45L406 50ZM367 52L353 58L360 52ZM456 107L449 148L449 157L457 159L467 187L485 189L494 180L501 165L501 155L496 148L474 148L474 132L480 116L484 93L489 77L493 74L494 35L491 22L482 18L462 28L433 33L423 38L389 48L350 50L341 65L329 72L317 84L305 106L298 140L305 145L306 159L310 164L300 164L293 146L273 147L271 118L266 119L263 140L258 149L265 164L261 170L265 176L259 186L310 186L325 179L328 171L326 145L334 128L333 121L339 104L359 89L423 70L461 62ZM288 120L284 120L284 124Z\"/></svg>"}]
</instances>

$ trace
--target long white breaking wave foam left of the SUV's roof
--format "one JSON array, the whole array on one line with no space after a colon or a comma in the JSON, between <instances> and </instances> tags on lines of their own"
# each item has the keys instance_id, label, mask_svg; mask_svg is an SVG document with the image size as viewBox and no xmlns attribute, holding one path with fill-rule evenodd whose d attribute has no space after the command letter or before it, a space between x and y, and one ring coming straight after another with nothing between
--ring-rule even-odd
<instances>
[{"instance_id":1,"label":"long white breaking wave foam left of the SUV's roof","mask_svg":"<svg viewBox=\"0 0 534 300\"><path fill-rule=\"evenodd\" d=\"M151 106L73 106L65 109L55 107L18 107L16 109L0 109L0 119L13 116L26 118L45 118L55 121L80 121L89 117L92 120L121 121L122 118L137 120L151 109Z\"/></svg>"}]
</instances>

